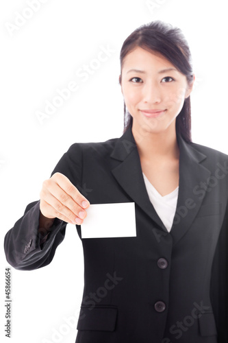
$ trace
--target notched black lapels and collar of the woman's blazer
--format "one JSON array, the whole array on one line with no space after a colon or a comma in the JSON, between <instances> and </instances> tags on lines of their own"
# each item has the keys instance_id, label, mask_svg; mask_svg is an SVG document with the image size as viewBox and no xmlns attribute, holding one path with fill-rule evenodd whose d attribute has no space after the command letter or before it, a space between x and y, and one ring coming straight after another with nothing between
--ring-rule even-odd
<instances>
[{"instance_id":1,"label":"notched black lapels and collar of the woman's blazer","mask_svg":"<svg viewBox=\"0 0 228 343\"><path fill-rule=\"evenodd\" d=\"M205 185L207 185L207 178L211 175L210 170L203 166L203 161L207 158L205 154L199 152L192 143L184 141L179 134L177 134L177 143L180 151L179 193L173 226L170 230L173 244L177 243L190 228L206 193L206 191L200 192L199 196L199 187L202 184L201 182L205 182ZM142 176L140 157L131 128L127 129L123 136L116 141L111 157L120 161L118 166L112 169L112 174L118 183L132 200L140 206L140 209L151 217L155 228L168 233L149 200Z\"/></svg>"}]
</instances>

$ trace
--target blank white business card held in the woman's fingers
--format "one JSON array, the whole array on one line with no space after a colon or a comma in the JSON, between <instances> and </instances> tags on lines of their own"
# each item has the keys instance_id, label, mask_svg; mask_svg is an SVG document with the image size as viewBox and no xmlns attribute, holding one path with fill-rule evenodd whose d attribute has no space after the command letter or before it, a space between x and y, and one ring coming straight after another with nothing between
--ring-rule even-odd
<instances>
[{"instance_id":1,"label":"blank white business card held in the woman's fingers","mask_svg":"<svg viewBox=\"0 0 228 343\"><path fill-rule=\"evenodd\" d=\"M81 238L136 237L134 202L90 204L81 224Z\"/></svg>"}]
</instances>

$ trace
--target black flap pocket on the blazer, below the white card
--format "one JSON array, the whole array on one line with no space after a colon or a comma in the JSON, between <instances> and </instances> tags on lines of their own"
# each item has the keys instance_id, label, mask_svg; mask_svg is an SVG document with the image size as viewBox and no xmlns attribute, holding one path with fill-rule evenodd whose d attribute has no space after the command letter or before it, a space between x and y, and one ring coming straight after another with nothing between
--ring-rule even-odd
<instances>
[{"instance_id":1,"label":"black flap pocket on the blazer, below the white card","mask_svg":"<svg viewBox=\"0 0 228 343\"><path fill-rule=\"evenodd\" d=\"M114 331L117 307L81 306L77 330Z\"/></svg>"}]
</instances>

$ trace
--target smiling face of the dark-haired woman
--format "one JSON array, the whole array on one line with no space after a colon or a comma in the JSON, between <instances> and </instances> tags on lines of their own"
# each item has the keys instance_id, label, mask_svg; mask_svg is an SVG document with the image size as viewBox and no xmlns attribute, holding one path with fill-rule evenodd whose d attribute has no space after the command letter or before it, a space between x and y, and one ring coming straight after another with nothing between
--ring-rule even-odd
<instances>
[{"instance_id":1,"label":"smiling face of the dark-haired woman","mask_svg":"<svg viewBox=\"0 0 228 343\"><path fill-rule=\"evenodd\" d=\"M121 91L135 134L175 130L175 118L192 91L183 75L162 55L136 47L125 56Z\"/></svg>"}]
</instances>

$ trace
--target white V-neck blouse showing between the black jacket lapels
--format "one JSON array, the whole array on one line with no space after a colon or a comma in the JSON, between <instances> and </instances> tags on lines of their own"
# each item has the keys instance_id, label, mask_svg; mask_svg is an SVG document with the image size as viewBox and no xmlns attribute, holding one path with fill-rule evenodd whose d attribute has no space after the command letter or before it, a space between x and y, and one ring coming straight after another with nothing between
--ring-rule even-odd
<instances>
[{"instance_id":1,"label":"white V-neck blouse showing between the black jacket lapels","mask_svg":"<svg viewBox=\"0 0 228 343\"><path fill-rule=\"evenodd\" d=\"M151 200L151 203L153 204L157 215L159 215L160 219L162 220L162 223L167 228L168 232L170 232L177 208L179 187L177 187L173 192L166 194L166 196L161 196L157 189L155 189L151 182L149 182L147 176L145 176L143 173L142 175L147 188L149 200Z\"/></svg>"}]
</instances>

